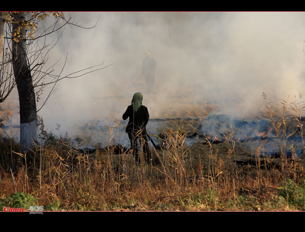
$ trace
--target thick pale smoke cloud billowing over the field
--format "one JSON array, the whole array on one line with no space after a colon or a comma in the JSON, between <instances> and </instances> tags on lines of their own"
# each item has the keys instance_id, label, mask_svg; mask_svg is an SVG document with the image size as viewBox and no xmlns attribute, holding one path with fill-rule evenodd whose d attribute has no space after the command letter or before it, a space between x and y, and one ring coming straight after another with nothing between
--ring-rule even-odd
<instances>
[{"instance_id":1,"label":"thick pale smoke cloud billowing over the field","mask_svg":"<svg viewBox=\"0 0 305 232\"><path fill-rule=\"evenodd\" d=\"M303 95L303 12L65 12L70 14L83 27L100 18L92 29L66 27L48 62L68 53L62 76L104 60L103 66L113 65L58 83L39 112L54 132L58 123L74 138L89 136L89 128L102 134L121 119L135 92L142 92L151 118L184 116L191 108L196 116L201 105L212 105L197 112L200 120L255 114L262 92L269 100ZM132 85L148 51L157 62L150 94L144 77Z\"/></svg>"}]
</instances>

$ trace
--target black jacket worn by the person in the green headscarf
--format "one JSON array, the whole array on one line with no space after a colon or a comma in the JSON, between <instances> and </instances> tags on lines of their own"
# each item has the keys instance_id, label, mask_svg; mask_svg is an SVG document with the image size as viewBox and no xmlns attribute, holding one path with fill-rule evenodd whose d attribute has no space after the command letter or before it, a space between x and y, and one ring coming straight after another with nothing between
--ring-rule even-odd
<instances>
[{"instance_id":1,"label":"black jacket worn by the person in the green headscarf","mask_svg":"<svg viewBox=\"0 0 305 232\"><path fill-rule=\"evenodd\" d=\"M129 105L123 114L123 120L129 117L129 122L126 127L126 133L134 134L138 130L143 129L143 134L146 134L146 124L149 120L147 107L141 105L137 112L134 112L133 106Z\"/></svg>"}]
</instances>

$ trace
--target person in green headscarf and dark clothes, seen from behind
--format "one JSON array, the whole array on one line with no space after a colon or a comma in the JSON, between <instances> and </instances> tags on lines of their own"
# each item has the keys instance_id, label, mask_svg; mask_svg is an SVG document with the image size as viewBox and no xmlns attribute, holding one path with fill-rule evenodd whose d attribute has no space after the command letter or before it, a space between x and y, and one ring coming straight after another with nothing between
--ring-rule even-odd
<instances>
[{"instance_id":1,"label":"person in green headscarf and dark clothes, seen from behind","mask_svg":"<svg viewBox=\"0 0 305 232\"><path fill-rule=\"evenodd\" d=\"M126 133L130 139L132 153L136 162L140 163L138 156L138 139L141 141L142 150L146 161L149 161L149 148L146 137L146 124L149 120L149 113L147 107L142 105L142 93L135 93L129 105L123 114L123 120L129 117L129 122L126 127Z\"/></svg>"}]
</instances>

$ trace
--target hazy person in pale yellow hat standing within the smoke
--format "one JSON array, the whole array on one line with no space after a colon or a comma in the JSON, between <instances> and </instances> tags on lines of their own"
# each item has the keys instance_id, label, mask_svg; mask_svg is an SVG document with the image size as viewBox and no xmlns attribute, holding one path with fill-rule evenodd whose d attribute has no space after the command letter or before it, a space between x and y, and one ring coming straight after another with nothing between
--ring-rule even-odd
<instances>
[{"instance_id":1,"label":"hazy person in pale yellow hat standing within the smoke","mask_svg":"<svg viewBox=\"0 0 305 232\"><path fill-rule=\"evenodd\" d=\"M142 76L145 75L147 91L152 91L155 84L155 69L157 67L156 60L150 57L150 53L146 52L146 57L142 62Z\"/></svg>"}]
</instances>

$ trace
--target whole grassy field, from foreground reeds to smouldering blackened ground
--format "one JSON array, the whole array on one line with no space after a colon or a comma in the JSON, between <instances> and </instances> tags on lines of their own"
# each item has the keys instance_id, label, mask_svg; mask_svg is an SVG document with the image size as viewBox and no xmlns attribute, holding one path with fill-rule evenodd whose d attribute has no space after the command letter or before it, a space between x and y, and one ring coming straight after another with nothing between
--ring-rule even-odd
<instances>
[{"instance_id":1,"label":"whole grassy field, from foreground reeds to smouldering blackened ground","mask_svg":"<svg viewBox=\"0 0 305 232\"><path fill-rule=\"evenodd\" d=\"M140 165L111 137L106 147L80 149L42 127L42 145L26 156L12 139L1 140L1 210L34 204L45 211L303 211L302 106L265 100L247 121L207 102L168 107L151 118L160 122L151 134L159 146ZM262 120L263 127L253 126ZM115 129L108 126L110 134Z\"/></svg>"}]
</instances>

